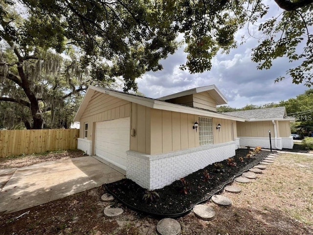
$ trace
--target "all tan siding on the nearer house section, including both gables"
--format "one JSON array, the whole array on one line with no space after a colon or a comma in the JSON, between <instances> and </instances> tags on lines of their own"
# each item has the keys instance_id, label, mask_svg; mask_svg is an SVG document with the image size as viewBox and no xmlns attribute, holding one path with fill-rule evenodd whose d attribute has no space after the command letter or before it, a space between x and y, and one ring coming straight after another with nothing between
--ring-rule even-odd
<instances>
[{"instance_id":1,"label":"all tan siding on the nearer house section, including both gables","mask_svg":"<svg viewBox=\"0 0 313 235\"><path fill-rule=\"evenodd\" d=\"M194 107L205 104L216 110L214 99L208 93L190 95L186 100L190 98ZM199 121L198 115L152 109L100 92L94 92L80 122L89 123L88 140L94 140L96 122L127 117L131 117L130 129L135 130L134 137L130 130L130 150L158 154L199 146L199 132L192 128L194 122ZM222 125L220 131L216 130L218 123ZM213 118L213 131L214 143L232 141L237 137L236 121ZM83 132L81 128L81 137ZM92 145L94 149L94 141Z\"/></svg>"}]
</instances>

